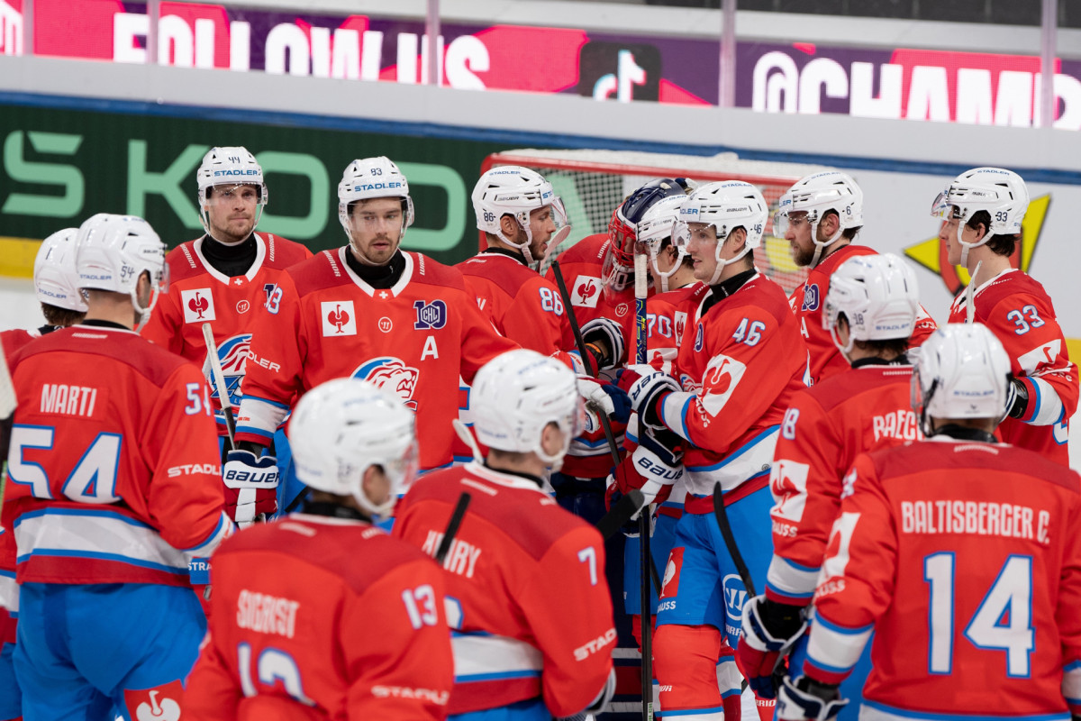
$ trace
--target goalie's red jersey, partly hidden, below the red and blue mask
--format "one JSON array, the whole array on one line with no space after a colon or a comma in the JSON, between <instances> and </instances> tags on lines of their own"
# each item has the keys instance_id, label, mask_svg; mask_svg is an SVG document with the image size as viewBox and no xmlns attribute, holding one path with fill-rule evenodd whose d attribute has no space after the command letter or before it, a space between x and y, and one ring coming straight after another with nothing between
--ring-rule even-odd
<instances>
[{"instance_id":1,"label":"goalie's red jersey, partly hidden, below the red and blue mask","mask_svg":"<svg viewBox=\"0 0 1081 721\"><path fill-rule=\"evenodd\" d=\"M572 310L579 326L595 318L608 318L622 326L625 351L617 363L622 366L626 363L627 356L633 358L635 352L635 289L631 285L616 292L605 289L601 282L604 254L611 242L608 233L587 236L560 253L559 267L568 293L571 294ZM552 268L548 269L545 277L552 283L556 282ZM574 345L574 337L570 323L565 333L564 347L571 347ZM622 443L626 427L620 423L611 425L616 442ZM570 452L563 458L562 472L577 478L604 478L611 468L612 453L608 440L601 430L597 430L574 439Z\"/></svg>"}]
</instances>

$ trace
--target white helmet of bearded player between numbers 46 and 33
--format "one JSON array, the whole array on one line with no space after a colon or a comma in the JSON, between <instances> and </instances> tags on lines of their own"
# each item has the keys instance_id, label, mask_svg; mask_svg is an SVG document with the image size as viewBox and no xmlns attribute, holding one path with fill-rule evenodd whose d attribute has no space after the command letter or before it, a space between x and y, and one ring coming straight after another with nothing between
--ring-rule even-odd
<instances>
[{"instance_id":1,"label":"white helmet of bearded player between numbers 46 and 33","mask_svg":"<svg viewBox=\"0 0 1081 721\"><path fill-rule=\"evenodd\" d=\"M837 213L837 232L824 241L818 240L818 223L830 211ZM788 232L790 213L806 213L814 241L811 267L818 265L823 251L832 245L850 228L864 225L864 191L848 173L825 171L801 178L780 197L773 216L773 232L784 238Z\"/></svg>"}]
</instances>

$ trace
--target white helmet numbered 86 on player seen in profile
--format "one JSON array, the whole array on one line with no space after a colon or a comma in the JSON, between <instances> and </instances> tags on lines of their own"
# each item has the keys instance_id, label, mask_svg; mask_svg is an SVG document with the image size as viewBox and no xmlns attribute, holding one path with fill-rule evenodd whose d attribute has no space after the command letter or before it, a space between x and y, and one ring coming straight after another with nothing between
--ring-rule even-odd
<instances>
[{"instance_id":1,"label":"white helmet numbered 86 on player seen in profile","mask_svg":"<svg viewBox=\"0 0 1081 721\"><path fill-rule=\"evenodd\" d=\"M571 235L571 224L566 219L563 201L552 190L551 183L529 168L499 165L481 175L473 186L472 205L477 214L477 228L520 250L530 265L544 259L534 258L530 252L530 245L533 244L533 230L530 228L531 212L546 205L551 208L556 232L548 241L548 253L555 251L556 246ZM499 221L508 214L513 216L518 225L525 230L524 243L516 243L503 235Z\"/></svg>"}]
</instances>

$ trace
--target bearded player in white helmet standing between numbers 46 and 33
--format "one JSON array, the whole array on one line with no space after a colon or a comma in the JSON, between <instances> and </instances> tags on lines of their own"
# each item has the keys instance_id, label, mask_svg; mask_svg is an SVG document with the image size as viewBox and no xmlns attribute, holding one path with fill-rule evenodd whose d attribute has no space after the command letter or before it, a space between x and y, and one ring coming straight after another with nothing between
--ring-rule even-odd
<instances>
[{"instance_id":1,"label":"bearded player in white helmet standing between numbers 46 and 33","mask_svg":"<svg viewBox=\"0 0 1081 721\"><path fill-rule=\"evenodd\" d=\"M851 257L876 253L854 244L863 225L864 192L850 175L838 171L802 178L780 197L774 215L774 233L791 244L796 265L809 269L806 281L788 304L811 352L813 383L849 370L829 330L823 326L822 311L833 271ZM934 330L935 321L921 308L909 345L920 345Z\"/></svg>"}]
</instances>

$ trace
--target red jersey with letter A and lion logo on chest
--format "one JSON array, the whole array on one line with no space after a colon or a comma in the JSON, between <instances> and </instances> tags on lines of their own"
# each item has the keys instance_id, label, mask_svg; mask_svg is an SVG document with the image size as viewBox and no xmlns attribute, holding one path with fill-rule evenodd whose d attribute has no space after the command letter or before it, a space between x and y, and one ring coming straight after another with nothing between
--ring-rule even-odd
<instances>
[{"instance_id":1,"label":"red jersey with letter A and lion logo on chest","mask_svg":"<svg viewBox=\"0 0 1081 721\"><path fill-rule=\"evenodd\" d=\"M421 468L451 463L458 377L517 344L481 316L462 273L403 253L401 279L372 288L323 251L282 273L252 325L237 440L266 445L289 408L310 388L355 377L395 391L416 411Z\"/></svg>"}]
</instances>

